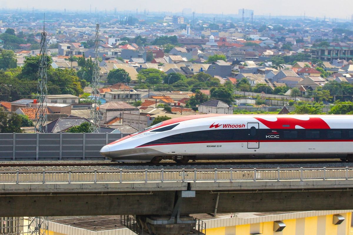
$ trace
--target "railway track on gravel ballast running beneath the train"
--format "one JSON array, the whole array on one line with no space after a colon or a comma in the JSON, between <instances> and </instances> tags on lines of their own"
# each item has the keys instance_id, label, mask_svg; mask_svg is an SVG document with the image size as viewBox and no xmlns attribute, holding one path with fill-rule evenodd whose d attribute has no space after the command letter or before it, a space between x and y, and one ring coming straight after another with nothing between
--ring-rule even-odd
<instances>
[{"instance_id":1,"label":"railway track on gravel ballast running beneath the train","mask_svg":"<svg viewBox=\"0 0 353 235\"><path fill-rule=\"evenodd\" d=\"M188 163L176 163L174 161L161 161L158 164L153 163L121 163L121 162L68 162L68 161L55 161L55 162L2 162L0 163L1 167L92 167L92 166L110 166L110 167L119 167L119 166L219 166L219 165L293 165L293 164L313 164L320 165L325 163L342 163L339 159L286 159L286 160L224 160L224 161L195 161Z\"/></svg>"}]
</instances>

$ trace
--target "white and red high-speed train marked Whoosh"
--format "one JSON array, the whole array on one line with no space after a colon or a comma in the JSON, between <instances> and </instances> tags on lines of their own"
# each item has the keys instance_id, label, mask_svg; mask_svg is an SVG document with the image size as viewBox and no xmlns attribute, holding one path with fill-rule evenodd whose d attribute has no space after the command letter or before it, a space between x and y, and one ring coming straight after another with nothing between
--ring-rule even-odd
<instances>
[{"instance_id":1,"label":"white and red high-speed train marked Whoosh","mask_svg":"<svg viewBox=\"0 0 353 235\"><path fill-rule=\"evenodd\" d=\"M163 159L311 159L353 161L353 115L192 115L173 118L107 144L119 162Z\"/></svg>"}]
</instances>

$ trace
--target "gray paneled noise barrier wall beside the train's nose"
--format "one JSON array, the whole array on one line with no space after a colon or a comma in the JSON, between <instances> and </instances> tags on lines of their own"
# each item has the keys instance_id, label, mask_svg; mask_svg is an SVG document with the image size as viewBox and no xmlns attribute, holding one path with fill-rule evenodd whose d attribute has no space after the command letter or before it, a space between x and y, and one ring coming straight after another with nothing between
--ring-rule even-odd
<instances>
[{"instance_id":1,"label":"gray paneled noise barrier wall beside the train's nose","mask_svg":"<svg viewBox=\"0 0 353 235\"><path fill-rule=\"evenodd\" d=\"M99 150L128 134L1 133L0 161L106 160Z\"/></svg>"}]
</instances>

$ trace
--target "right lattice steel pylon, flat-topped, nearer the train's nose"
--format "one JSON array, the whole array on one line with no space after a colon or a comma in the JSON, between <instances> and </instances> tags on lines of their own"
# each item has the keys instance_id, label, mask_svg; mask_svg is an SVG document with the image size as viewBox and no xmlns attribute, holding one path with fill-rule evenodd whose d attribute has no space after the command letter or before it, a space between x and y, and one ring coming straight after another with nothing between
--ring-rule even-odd
<instances>
[{"instance_id":1,"label":"right lattice steel pylon, flat-topped, nearer the train's nose","mask_svg":"<svg viewBox=\"0 0 353 235\"><path fill-rule=\"evenodd\" d=\"M99 126L99 55L98 55L98 46L99 46L99 24L96 24L96 40L95 40L95 60L93 64L93 76L92 76L92 109L90 112L90 121L91 125L89 128L90 133L98 133L100 126Z\"/></svg>"}]
</instances>

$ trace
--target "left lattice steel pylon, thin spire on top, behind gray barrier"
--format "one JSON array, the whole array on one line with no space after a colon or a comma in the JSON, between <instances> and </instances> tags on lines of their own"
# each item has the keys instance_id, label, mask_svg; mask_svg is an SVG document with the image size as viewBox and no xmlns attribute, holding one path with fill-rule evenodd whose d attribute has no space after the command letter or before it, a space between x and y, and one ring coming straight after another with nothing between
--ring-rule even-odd
<instances>
[{"instance_id":1,"label":"left lattice steel pylon, thin spire on top, behind gray barrier","mask_svg":"<svg viewBox=\"0 0 353 235\"><path fill-rule=\"evenodd\" d=\"M39 53L39 73L38 73L38 89L37 89L37 112L36 112L36 125L35 132L46 133L47 127L47 104L44 103L45 98L48 94L47 90L47 33L44 31L41 33L41 50Z\"/></svg>"}]
</instances>

